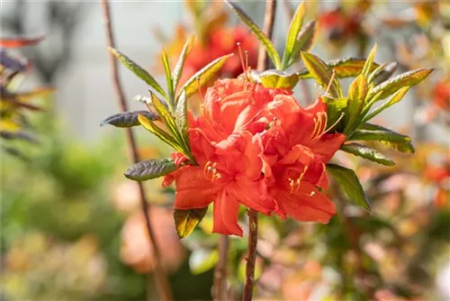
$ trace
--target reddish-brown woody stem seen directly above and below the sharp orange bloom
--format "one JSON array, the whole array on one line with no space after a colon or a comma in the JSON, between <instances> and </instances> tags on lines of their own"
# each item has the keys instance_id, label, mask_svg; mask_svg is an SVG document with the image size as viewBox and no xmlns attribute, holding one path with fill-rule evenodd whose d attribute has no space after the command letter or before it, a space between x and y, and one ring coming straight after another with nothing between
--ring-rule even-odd
<instances>
[{"instance_id":1,"label":"reddish-brown woody stem seen directly above and below the sharp orange bloom","mask_svg":"<svg viewBox=\"0 0 450 301\"><path fill-rule=\"evenodd\" d=\"M272 40L276 12L276 0L266 0L266 14L264 16L263 32ZM259 46L257 70L264 71L268 66L267 53L263 44ZM250 301L253 296L255 284L255 262L257 260L257 211L248 212L248 250L246 264L246 280L244 285L243 301Z\"/></svg>"}]
</instances>

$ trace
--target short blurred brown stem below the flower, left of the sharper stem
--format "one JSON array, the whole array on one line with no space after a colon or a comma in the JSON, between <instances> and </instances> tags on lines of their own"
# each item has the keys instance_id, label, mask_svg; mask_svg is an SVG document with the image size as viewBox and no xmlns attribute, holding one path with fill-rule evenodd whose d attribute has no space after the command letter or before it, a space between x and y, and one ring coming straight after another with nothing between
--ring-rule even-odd
<instances>
[{"instance_id":1,"label":"short blurred brown stem below the flower, left of the sharper stem","mask_svg":"<svg viewBox=\"0 0 450 301\"><path fill-rule=\"evenodd\" d=\"M227 264L229 252L228 235L219 238L219 262L214 270L214 301L227 300Z\"/></svg>"}]
</instances>

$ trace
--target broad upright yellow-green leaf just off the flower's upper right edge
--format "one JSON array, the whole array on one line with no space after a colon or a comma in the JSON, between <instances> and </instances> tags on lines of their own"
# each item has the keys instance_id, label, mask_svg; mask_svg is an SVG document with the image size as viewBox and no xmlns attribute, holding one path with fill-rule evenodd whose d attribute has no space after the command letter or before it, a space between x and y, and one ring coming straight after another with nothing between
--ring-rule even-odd
<instances>
[{"instance_id":1,"label":"broad upright yellow-green leaf just off the flower's upper right edge","mask_svg":"<svg viewBox=\"0 0 450 301\"><path fill-rule=\"evenodd\" d=\"M348 87L348 106L347 106L347 126L344 131L346 134L353 129L365 105L365 96L367 95L367 79L364 74L360 74Z\"/></svg>"}]
</instances>

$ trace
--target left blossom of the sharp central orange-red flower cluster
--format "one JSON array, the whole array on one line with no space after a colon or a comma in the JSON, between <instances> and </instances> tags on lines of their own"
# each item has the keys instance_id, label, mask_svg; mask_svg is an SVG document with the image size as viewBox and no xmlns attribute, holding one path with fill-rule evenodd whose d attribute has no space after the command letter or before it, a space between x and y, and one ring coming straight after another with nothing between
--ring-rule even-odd
<instances>
[{"instance_id":1,"label":"left blossom of the sharp central orange-red flower cluster","mask_svg":"<svg viewBox=\"0 0 450 301\"><path fill-rule=\"evenodd\" d=\"M213 203L214 233L242 236L239 204L270 214L275 203L267 194L263 144L255 135L264 131L257 115L282 89L268 89L241 79L218 80L208 89L201 114L188 115L189 141L197 166L188 165L166 176L176 182L175 209ZM173 154L180 164L180 154Z\"/></svg>"}]
</instances>

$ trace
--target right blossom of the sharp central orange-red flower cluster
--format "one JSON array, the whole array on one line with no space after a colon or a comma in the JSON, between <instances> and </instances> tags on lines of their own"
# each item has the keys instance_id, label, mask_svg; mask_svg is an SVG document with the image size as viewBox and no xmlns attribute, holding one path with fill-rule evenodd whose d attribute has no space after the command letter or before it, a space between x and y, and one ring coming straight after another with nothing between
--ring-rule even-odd
<instances>
[{"instance_id":1,"label":"right blossom of the sharp central orange-red flower cluster","mask_svg":"<svg viewBox=\"0 0 450 301\"><path fill-rule=\"evenodd\" d=\"M328 187L325 165L346 136L327 133L327 108L320 99L302 108L293 96L275 96L267 110L272 121L262 135L264 173L277 214L328 223L336 208L321 192Z\"/></svg>"}]
</instances>

